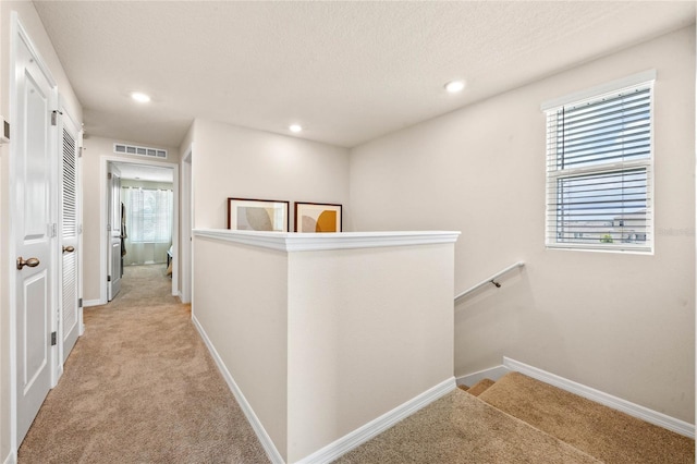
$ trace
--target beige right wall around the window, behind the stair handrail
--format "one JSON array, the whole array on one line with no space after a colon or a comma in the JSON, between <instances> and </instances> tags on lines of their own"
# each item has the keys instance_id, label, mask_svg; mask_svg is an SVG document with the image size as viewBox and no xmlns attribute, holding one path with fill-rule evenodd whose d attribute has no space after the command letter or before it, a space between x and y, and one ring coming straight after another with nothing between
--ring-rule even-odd
<instances>
[{"instance_id":1,"label":"beige right wall around the window, behind the stair handrail","mask_svg":"<svg viewBox=\"0 0 697 464\"><path fill-rule=\"evenodd\" d=\"M656 255L545 249L540 103L656 69ZM455 375L502 356L694 423L695 28L352 150L356 230L463 232L455 289L523 259L455 308Z\"/></svg>"}]
</instances>

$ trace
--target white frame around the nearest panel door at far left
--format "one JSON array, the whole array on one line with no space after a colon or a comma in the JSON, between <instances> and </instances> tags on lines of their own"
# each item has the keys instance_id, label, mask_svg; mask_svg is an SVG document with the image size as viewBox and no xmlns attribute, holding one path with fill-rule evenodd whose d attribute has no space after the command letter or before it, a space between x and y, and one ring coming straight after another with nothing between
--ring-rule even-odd
<instances>
[{"instance_id":1,"label":"white frame around the nearest panel door at far left","mask_svg":"<svg viewBox=\"0 0 697 464\"><path fill-rule=\"evenodd\" d=\"M25 44L25 46L34 57L36 64L39 66L41 72L48 78L50 85L53 88L53 93L56 94L54 95L56 105L58 106L58 88L57 88L56 80L53 78L51 71L46 65L46 62L44 61L40 53L38 52L38 49L34 46L34 42L32 41L32 38L29 37L28 33L22 25L19 14L15 11L12 11L11 17L10 17L10 83L9 83L10 84L9 85L10 121L19 120L20 102L17 101L16 63L17 63L20 41L23 41ZM10 127L10 131L11 131L10 139L16 139L17 137L16 125L12 124ZM54 138L53 141L54 144L58 142L57 137L51 137L51 138ZM12 175L12 170L14 169L14 164L16 163L16 158L17 158L16 149L17 149L16 144L10 144L9 205L11 210L14 209L15 207L15 204L16 204L15 195L17 192L15 176ZM56 149L57 149L57 146L51 147L52 151L56 151ZM57 176L58 176L58 160L57 160L57 157L53 155L54 152L52 154L52 158L54 162L53 162L53 166L51 166L52 185L49 186L49 191L51 191L51 188L56 190ZM52 209L51 218L57 219L58 195L57 195L57 192L51 192L51 193L54 194L54 198L51 199L51 209ZM13 215L10 215L10 221L12 221L12 216ZM16 241L16 236L15 236L14 224L10 223L8 253L9 253L9 256L12 257L12 259L8 259L7 269L9 270L8 300L10 303L10 453L12 456L16 456L16 452L20 444L17 443L17 420L19 420L17 398L19 395L17 395L17 382L16 382L17 380L16 356L17 356L19 347L16 345L17 344L17 308L16 308L17 298L16 298L16 269L14 267L14 257L16 256L15 241ZM51 243L52 256L56 255L58 242L59 242L58 239L54 239ZM54 281L53 285L51 285L51 294L49 295L49 298L52 305L51 331L56 331L58 329L57 327L58 309L56 304L58 273L57 273L56 259L52 259L52 262L50 266L51 266L52 279ZM57 357L58 357L58 345L54 345L51 347L51 353L50 353L51 388L56 387L56 383L58 382L58 369L57 369L57 363L56 363Z\"/></svg>"}]
</instances>

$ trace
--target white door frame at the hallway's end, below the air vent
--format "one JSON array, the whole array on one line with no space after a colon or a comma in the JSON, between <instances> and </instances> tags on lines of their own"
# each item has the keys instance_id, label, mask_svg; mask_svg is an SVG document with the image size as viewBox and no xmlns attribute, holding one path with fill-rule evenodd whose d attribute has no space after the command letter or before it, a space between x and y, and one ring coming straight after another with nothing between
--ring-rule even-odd
<instances>
[{"instance_id":1,"label":"white door frame at the hallway's end, below the air vent","mask_svg":"<svg viewBox=\"0 0 697 464\"><path fill-rule=\"evenodd\" d=\"M99 304L107 304L107 172L110 162L123 162L127 164L151 166L154 168L167 168L174 171L172 211L172 259L179 255L179 164L167 161L140 160L118 155L102 155L99 160ZM176 262L176 261L174 261ZM179 295L178 266L172 266L172 295Z\"/></svg>"}]
</instances>

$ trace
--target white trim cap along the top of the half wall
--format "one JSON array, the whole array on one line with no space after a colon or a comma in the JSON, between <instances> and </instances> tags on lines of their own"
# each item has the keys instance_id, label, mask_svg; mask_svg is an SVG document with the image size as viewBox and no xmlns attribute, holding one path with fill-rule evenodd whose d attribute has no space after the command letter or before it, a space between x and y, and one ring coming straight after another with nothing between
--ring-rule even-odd
<instances>
[{"instance_id":1,"label":"white trim cap along the top of the half wall","mask_svg":"<svg viewBox=\"0 0 697 464\"><path fill-rule=\"evenodd\" d=\"M460 232L339 232L289 233L194 229L195 236L216 239L279 252L317 252L328 249L374 248L382 246L432 245L455 243Z\"/></svg>"}]
</instances>

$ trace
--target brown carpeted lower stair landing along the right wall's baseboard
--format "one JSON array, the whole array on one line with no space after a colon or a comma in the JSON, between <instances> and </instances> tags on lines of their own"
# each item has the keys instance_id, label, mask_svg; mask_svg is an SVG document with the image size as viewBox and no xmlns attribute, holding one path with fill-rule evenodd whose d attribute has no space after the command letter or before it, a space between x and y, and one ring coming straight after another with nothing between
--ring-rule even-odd
<instances>
[{"instance_id":1,"label":"brown carpeted lower stair landing along the right wall's baseboard","mask_svg":"<svg viewBox=\"0 0 697 464\"><path fill-rule=\"evenodd\" d=\"M695 440L519 373L465 391L606 463L695 463Z\"/></svg>"}]
</instances>

